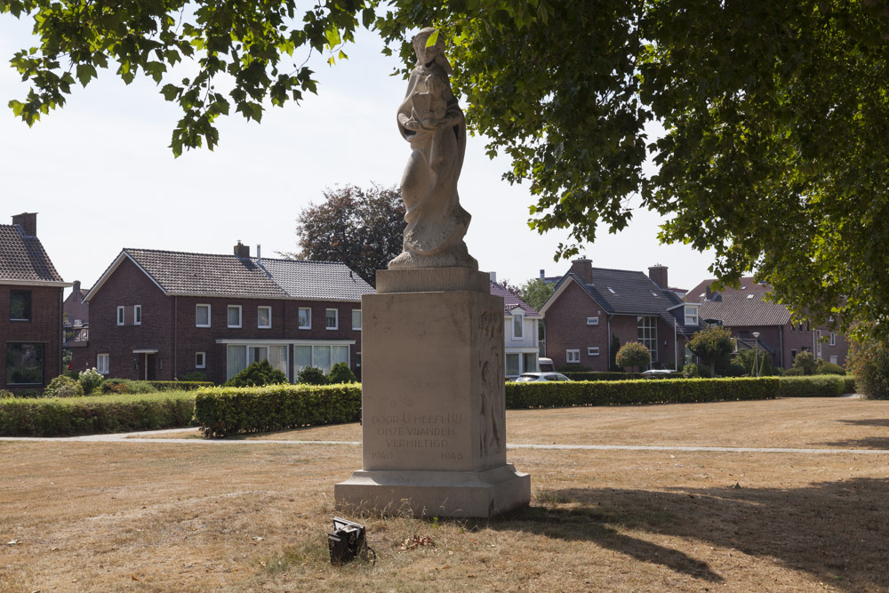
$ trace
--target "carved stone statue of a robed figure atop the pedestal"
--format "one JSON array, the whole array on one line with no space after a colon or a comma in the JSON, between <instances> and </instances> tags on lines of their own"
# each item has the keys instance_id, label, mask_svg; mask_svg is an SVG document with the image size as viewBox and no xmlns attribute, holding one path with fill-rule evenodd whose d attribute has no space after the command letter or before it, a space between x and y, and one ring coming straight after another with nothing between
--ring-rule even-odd
<instances>
[{"instance_id":1,"label":"carved stone statue of a robed figure atop the pedestal","mask_svg":"<svg viewBox=\"0 0 889 593\"><path fill-rule=\"evenodd\" d=\"M411 143L411 157L401 179L404 199L404 251L389 261L389 269L471 268L463 236L469 212L461 208L457 180L466 151L466 120L451 91L453 73L445 58L445 42L426 47L434 28L413 38L417 66L398 108L398 129Z\"/></svg>"}]
</instances>

